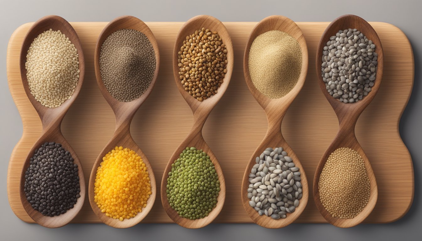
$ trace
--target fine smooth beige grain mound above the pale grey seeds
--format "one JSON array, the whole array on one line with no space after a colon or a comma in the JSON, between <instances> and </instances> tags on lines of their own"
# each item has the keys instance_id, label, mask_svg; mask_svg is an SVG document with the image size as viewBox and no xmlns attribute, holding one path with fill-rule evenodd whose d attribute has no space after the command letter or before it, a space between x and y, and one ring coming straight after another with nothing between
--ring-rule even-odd
<instances>
[{"instance_id":1,"label":"fine smooth beige grain mound above the pale grey seeds","mask_svg":"<svg viewBox=\"0 0 422 241\"><path fill-rule=\"evenodd\" d=\"M271 99L287 95L302 71L302 49L286 32L271 30L258 35L249 49L249 75L255 88Z\"/></svg>"}]
</instances>

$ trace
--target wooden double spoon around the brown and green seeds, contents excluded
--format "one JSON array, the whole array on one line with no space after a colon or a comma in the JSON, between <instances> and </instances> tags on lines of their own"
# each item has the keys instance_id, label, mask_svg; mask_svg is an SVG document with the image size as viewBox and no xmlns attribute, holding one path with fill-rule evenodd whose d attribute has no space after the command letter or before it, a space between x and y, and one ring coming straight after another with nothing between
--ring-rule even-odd
<instances>
[{"instance_id":1,"label":"wooden double spoon around the brown and green seeds, contents excluded","mask_svg":"<svg viewBox=\"0 0 422 241\"><path fill-rule=\"evenodd\" d=\"M217 31L219 36L222 38L223 43L226 45L227 73L224 77L222 85L218 88L218 93L201 102L195 99L194 97L192 97L191 95L189 95L189 93L184 90L184 87L182 86L181 81L179 79L179 67L177 64L178 64L178 59L179 59L178 52L180 50L180 47L183 45L183 41L186 40L186 36L191 35L196 30L199 30L202 27L208 28L211 31ZM165 168L164 175L161 181L161 202L168 216L174 222L176 222L182 227L200 228L200 227L204 227L208 225L218 216L218 214L220 213L224 205L224 200L226 196L226 187L225 187L223 172L214 153L211 151L209 146L204 141L204 138L202 136L202 127L204 126L208 115L211 113L214 106L218 103L218 101L224 95L224 92L226 91L230 83L230 78L233 72L233 59L234 59L233 44L232 44L232 40L230 38L229 32L227 32L227 29L224 26L224 24L222 24L222 22L220 22L218 19L212 16L200 15L200 16L195 16L192 19L189 19L189 21L187 21L181 27L179 34L176 37L176 42L175 42L174 50L173 50L174 79L176 81L176 86L179 89L179 92L184 97L189 107L192 109L194 125L190 133L184 139L184 141L174 151L173 155L170 157L170 160ZM179 158L179 154L183 152L183 150L188 146L196 147L197 149L203 149L204 152L206 152L210 156L210 159L212 163L214 164L215 170L218 174L218 178L220 181L220 192L217 198L217 206L209 213L207 217L202 218L202 219L196 219L196 220L190 220L187 218L180 217L179 214L177 214L177 212L170 207L167 200L167 193L166 193L167 178L168 178L168 173L171 171L171 164L173 164L174 160Z\"/></svg>"}]
</instances>

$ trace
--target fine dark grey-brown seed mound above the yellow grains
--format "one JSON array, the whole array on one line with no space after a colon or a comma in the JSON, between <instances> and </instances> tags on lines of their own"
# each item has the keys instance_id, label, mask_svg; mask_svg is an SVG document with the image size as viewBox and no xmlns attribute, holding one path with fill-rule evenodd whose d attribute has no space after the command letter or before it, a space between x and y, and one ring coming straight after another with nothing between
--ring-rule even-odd
<instances>
[{"instance_id":1,"label":"fine dark grey-brown seed mound above the yellow grains","mask_svg":"<svg viewBox=\"0 0 422 241\"><path fill-rule=\"evenodd\" d=\"M100 74L116 100L136 100L154 77L156 59L148 37L133 29L121 29L106 38L100 52Z\"/></svg>"}]
</instances>

